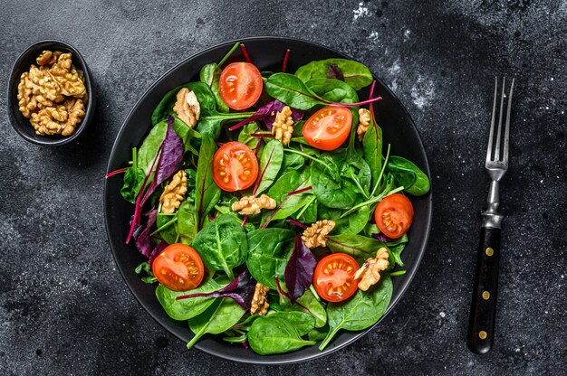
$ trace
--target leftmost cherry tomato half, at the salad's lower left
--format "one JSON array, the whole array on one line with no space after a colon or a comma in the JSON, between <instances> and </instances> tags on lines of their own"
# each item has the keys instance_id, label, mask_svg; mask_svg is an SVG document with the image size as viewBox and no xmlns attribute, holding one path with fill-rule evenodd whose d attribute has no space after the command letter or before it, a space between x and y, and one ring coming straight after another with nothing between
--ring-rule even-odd
<instances>
[{"instance_id":1,"label":"leftmost cherry tomato half, at the salad's lower left","mask_svg":"<svg viewBox=\"0 0 567 376\"><path fill-rule=\"evenodd\" d=\"M198 287L205 275L203 260L197 251L181 243L163 249L151 269L160 284L174 291Z\"/></svg>"}]
</instances>

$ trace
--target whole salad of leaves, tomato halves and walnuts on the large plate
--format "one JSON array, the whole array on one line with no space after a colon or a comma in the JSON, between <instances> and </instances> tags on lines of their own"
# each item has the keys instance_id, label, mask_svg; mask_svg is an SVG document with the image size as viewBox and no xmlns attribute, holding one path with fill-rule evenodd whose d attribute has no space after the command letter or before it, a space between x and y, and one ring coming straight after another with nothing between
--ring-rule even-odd
<instances>
[{"instance_id":1,"label":"whole salad of leaves, tomato halves and walnuts on the large plate","mask_svg":"<svg viewBox=\"0 0 567 376\"><path fill-rule=\"evenodd\" d=\"M148 258L136 272L187 322L188 348L218 334L261 355L323 350L375 324L405 273L407 194L428 193L428 176L389 154L367 67L291 73L289 53L259 71L236 43L164 96L130 165L107 175L123 174L126 241Z\"/></svg>"}]
</instances>

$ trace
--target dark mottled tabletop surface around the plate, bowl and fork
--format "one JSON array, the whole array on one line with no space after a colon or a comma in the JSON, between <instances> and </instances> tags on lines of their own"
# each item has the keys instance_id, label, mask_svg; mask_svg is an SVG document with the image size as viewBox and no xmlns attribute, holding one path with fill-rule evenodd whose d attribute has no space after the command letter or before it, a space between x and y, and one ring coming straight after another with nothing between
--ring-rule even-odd
<instances>
[{"instance_id":1,"label":"dark mottled tabletop surface around the plate, bowl and fork","mask_svg":"<svg viewBox=\"0 0 567 376\"><path fill-rule=\"evenodd\" d=\"M139 3L2 4L1 374L567 373L567 3ZM330 357L269 368L187 351L159 327L114 267L102 220L111 145L143 90L194 52L263 34L321 42L369 65L416 120L434 184L428 251L380 328ZM91 129L59 149L26 143L5 108L11 64L47 38L82 52L98 99ZM466 325L496 74L517 86L495 346L479 356L466 349Z\"/></svg>"}]
</instances>

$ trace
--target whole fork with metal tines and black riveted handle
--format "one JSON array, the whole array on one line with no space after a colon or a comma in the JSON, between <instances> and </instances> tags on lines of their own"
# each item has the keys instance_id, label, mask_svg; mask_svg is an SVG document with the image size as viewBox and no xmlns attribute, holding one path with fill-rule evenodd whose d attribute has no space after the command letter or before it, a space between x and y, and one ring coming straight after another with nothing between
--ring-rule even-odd
<instances>
[{"instance_id":1,"label":"whole fork with metal tines and black riveted handle","mask_svg":"<svg viewBox=\"0 0 567 376\"><path fill-rule=\"evenodd\" d=\"M483 211L480 232L480 247L476 258L475 288L468 325L468 348L474 353L488 353L492 348L495 334L496 294L498 288L498 261L500 258L500 231L504 215L498 213L500 197L498 183L508 170L508 145L510 139L510 110L514 79L507 95L504 142L502 142L502 120L505 104L505 79L502 80L500 114L496 128L496 103L498 79L495 79L495 99L492 108L492 122L488 137L485 168L492 182L488 191L487 209ZM501 153L501 144L504 144Z\"/></svg>"}]
</instances>

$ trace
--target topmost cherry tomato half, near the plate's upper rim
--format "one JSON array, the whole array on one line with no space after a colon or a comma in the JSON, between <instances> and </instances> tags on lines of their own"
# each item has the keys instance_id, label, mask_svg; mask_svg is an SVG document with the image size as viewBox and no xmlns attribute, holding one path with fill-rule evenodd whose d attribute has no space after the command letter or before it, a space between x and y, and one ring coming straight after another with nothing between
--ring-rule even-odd
<instances>
[{"instance_id":1,"label":"topmost cherry tomato half, near the plate's upper rim","mask_svg":"<svg viewBox=\"0 0 567 376\"><path fill-rule=\"evenodd\" d=\"M226 106L245 109L254 106L262 94L262 75L250 62L233 62L220 73L218 92Z\"/></svg>"}]
</instances>

